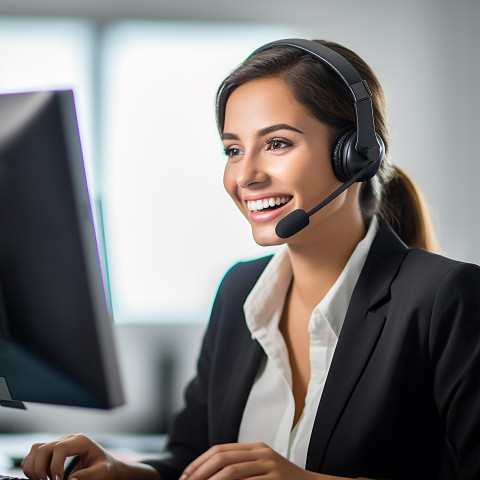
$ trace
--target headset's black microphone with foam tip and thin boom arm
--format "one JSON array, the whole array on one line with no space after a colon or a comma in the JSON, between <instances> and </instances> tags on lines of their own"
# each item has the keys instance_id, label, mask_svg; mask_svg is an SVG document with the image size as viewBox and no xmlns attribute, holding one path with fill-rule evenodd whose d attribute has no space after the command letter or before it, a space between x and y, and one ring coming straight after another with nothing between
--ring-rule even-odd
<instances>
[{"instance_id":1,"label":"headset's black microphone with foam tip and thin boom arm","mask_svg":"<svg viewBox=\"0 0 480 480\"><path fill-rule=\"evenodd\" d=\"M343 185L338 187L333 193L331 193L327 198L322 200L318 205L313 207L311 210L306 212L301 208L297 208L293 212L289 213L286 217L282 218L275 227L275 233L280 238L290 238L300 230L304 229L309 223L309 217L314 213L318 212L325 205L329 204L332 200L337 198L342 192L344 192L348 187L353 185L356 181L362 178L365 173L368 172L370 168L374 168L374 165L378 160L370 162L365 168L360 170L354 177L352 177L348 182L345 182Z\"/></svg>"}]
</instances>

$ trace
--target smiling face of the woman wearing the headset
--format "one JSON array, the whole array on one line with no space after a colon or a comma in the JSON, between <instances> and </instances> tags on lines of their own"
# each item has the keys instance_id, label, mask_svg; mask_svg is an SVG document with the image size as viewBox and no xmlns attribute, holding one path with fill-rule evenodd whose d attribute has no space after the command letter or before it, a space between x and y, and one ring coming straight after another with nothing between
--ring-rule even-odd
<instances>
[{"instance_id":1,"label":"smiling face of the woman wearing the headset","mask_svg":"<svg viewBox=\"0 0 480 480\"><path fill-rule=\"evenodd\" d=\"M341 185L331 167L329 128L280 79L252 80L233 91L222 139L225 188L260 245L284 243L275 234L278 221L297 208L310 210ZM321 225L345 208L346 197L313 215L292 239L321 234Z\"/></svg>"}]
</instances>

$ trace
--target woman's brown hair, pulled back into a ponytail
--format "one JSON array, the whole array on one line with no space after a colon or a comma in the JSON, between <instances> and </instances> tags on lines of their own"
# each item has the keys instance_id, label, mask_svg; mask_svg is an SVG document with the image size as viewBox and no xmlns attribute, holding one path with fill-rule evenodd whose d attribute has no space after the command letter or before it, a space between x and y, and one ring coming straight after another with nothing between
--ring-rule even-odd
<instances>
[{"instance_id":1,"label":"woman's brown hair, pulled back into a ponytail","mask_svg":"<svg viewBox=\"0 0 480 480\"><path fill-rule=\"evenodd\" d=\"M385 96L379 81L370 67L351 50L337 43L315 41L345 57L372 92L375 130L385 143L385 158L377 175L361 185L360 207L365 224L378 214L407 245L435 251L437 242L425 202L412 180L388 161ZM275 47L247 58L221 83L216 103L220 133L223 132L226 103L233 90L250 80L265 77L285 82L296 100L337 136L355 127L352 94L338 75L299 49Z\"/></svg>"}]
</instances>

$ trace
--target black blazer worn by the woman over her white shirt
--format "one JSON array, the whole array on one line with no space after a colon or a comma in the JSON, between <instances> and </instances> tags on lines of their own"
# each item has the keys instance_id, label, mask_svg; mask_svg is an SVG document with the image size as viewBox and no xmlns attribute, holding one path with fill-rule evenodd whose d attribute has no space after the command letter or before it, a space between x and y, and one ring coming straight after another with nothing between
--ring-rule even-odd
<instances>
[{"instance_id":1,"label":"black blazer worn by the woman over her white shirt","mask_svg":"<svg viewBox=\"0 0 480 480\"><path fill-rule=\"evenodd\" d=\"M264 355L243 303L269 257L217 293L165 479L237 441ZM307 470L374 479L480 479L480 268L407 248L385 222L354 289L326 379Z\"/></svg>"}]
</instances>

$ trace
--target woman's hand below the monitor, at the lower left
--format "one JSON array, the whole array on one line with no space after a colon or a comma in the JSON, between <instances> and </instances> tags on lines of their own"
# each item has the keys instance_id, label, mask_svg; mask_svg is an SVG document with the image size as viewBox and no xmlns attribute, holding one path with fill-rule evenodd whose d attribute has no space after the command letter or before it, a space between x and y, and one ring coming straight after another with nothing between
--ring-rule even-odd
<instances>
[{"instance_id":1,"label":"woman's hand below the monitor, at the lower left","mask_svg":"<svg viewBox=\"0 0 480 480\"><path fill-rule=\"evenodd\" d=\"M144 464L127 464L108 453L85 435L67 435L51 443L37 443L22 462L31 480L63 480L68 457L79 455L70 480L159 480L159 473Z\"/></svg>"}]
</instances>

